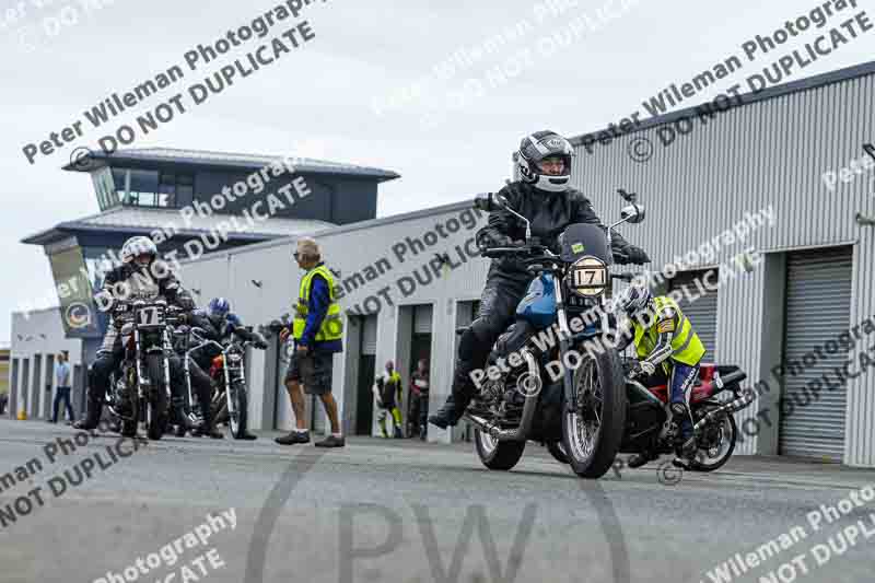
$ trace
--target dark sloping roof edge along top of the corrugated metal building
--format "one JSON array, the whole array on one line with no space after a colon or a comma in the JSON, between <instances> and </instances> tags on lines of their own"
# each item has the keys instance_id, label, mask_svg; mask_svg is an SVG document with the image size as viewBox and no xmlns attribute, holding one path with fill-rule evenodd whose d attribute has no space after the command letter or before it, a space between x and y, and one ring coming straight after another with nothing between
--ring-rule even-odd
<instances>
[{"instance_id":1,"label":"dark sloping roof edge along top of the corrugated metal building","mask_svg":"<svg viewBox=\"0 0 875 583\"><path fill-rule=\"evenodd\" d=\"M824 85L829 85L832 83L839 83L841 81L847 81L849 79L856 79L860 77L866 77L870 74L875 73L875 61L868 61L861 65L854 65L853 67L847 67L844 69L837 69L835 71L829 71L828 73L822 73L814 77L808 77L805 79L800 79L797 81L792 81L790 83L784 83L782 85L774 85L768 89L765 89L758 93L742 93L739 94L738 101L740 101L739 105L734 105L735 107L744 107L745 105L750 105L752 103L766 101L766 100L773 100L775 97L780 97L782 95L788 95L790 93L798 93L802 91L807 91L810 89L820 88ZM685 107L684 109L677 109L675 112L670 112L668 114L664 114L657 117L651 117L641 121L641 124L637 125L634 129L623 132L623 135L628 133L635 133L639 131L643 131L648 128L653 128L656 126L662 126L663 124L670 124L672 121L677 121L684 117L695 117L699 115L699 109L704 104L712 103L713 100L707 101L703 103L699 103L692 105L690 107ZM581 145L583 143L583 138L585 136L593 136L597 135L602 131L605 131L607 127L597 129L595 131L587 131L584 133L580 133L573 138L570 138L574 145ZM514 153L514 160L516 160L516 153Z\"/></svg>"}]
</instances>

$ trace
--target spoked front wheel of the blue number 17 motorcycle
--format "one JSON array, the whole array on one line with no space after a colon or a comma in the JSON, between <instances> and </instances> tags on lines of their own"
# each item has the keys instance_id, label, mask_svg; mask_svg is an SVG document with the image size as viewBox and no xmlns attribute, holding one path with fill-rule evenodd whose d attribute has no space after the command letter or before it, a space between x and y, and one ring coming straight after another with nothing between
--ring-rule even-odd
<instances>
[{"instance_id":1,"label":"spoked front wheel of the blue number 17 motorcycle","mask_svg":"<svg viewBox=\"0 0 875 583\"><path fill-rule=\"evenodd\" d=\"M563 407L563 448L574 473L600 478L612 466L626 423L626 384L617 352L587 358L574 371L578 410Z\"/></svg>"}]
</instances>

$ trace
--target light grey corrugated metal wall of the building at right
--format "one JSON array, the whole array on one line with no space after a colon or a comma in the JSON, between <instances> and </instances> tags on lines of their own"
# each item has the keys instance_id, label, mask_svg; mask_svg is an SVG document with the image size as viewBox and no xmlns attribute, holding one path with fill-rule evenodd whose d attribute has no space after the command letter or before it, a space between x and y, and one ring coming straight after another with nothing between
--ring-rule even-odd
<instances>
[{"instance_id":1,"label":"light grey corrugated metal wall of the building at right","mask_svg":"<svg viewBox=\"0 0 875 583\"><path fill-rule=\"evenodd\" d=\"M652 269L699 248L743 221L745 213L768 207L777 224L721 246L715 261L725 264L747 247L782 253L853 244L851 322L859 323L875 313L875 250L873 228L859 225L854 218L856 212L875 214L875 173L850 184L839 182L835 191L826 188L821 175L864 155L862 144L875 139L873 103L875 75L870 74L730 109L707 125L693 119L695 129L668 147L662 145L657 127L595 144L592 154L580 145L575 186L592 198L605 222L615 220L622 206L617 188L640 195L648 219L621 232L648 250ZM652 159L643 163L628 155L641 138L653 144ZM728 281L720 290L718 311L716 359L743 366L751 381L758 380L761 366L762 276L760 266ZM862 347L855 350L851 358ZM758 406L738 420L755 416ZM875 375L851 382L847 416L843 462L875 465ZM739 453L752 453L756 443L746 440Z\"/></svg>"}]
</instances>

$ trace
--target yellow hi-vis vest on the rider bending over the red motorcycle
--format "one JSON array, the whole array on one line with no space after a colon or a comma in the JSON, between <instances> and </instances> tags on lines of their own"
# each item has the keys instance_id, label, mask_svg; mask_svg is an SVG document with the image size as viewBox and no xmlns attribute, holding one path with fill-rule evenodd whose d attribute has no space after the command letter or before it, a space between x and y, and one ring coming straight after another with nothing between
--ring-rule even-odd
<instances>
[{"instance_id":1,"label":"yellow hi-vis vest on the rider bending over the red motorcycle","mask_svg":"<svg viewBox=\"0 0 875 583\"><path fill-rule=\"evenodd\" d=\"M692 329L689 318L684 315L677 303L670 298L660 295L653 299L655 315L653 322L646 328L638 319L632 319L635 333L635 350L639 359L648 358L656 348L660 341L660 333L672 331L672 349L674 353L669 360L663 361L663 370L670 372L669 361L675 360L690 366L699 364L704 355L704 345L699 339L699 335ZM675 316L668 318L664 316L664 310L672 308Z\"/></svg>"}]
</instances>

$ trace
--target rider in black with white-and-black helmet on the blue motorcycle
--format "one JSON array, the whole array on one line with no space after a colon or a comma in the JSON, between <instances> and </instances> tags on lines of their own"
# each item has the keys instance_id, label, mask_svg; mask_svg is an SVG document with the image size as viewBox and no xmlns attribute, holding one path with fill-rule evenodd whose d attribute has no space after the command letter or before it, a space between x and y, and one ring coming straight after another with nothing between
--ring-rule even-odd
<instances>
[{"instance_id":1,"label":"rider in black with white-and-black helmet on the blue motorcycle","mask_svg":"<svg viewBox=\"0 0 875 583\"><path fill-rule=\"evenodd\" d=\"M570 224L602 225L593 206L582 193L570 187L571 143L549 130L523 138L517 152L522 180L509 184L499 193L510 207L530 221L532 236L541 245L559 252L557 238ZM478 233L478 246L506 247L525 242L525 223L500 209L489 215L489 224ZM648 255L612 233L614 259L618 264L646 264ZM455 425L474 397L472 371L483 368L492 345L513 319L516 306L534 275L513 257L493 259L480 298L477 319L463 333L453 387L444 406L429 417L441 429Z\"/></svg>"}]
</instances>

